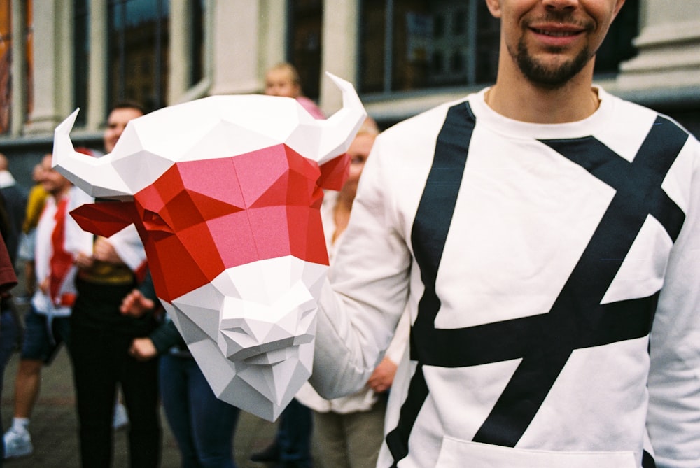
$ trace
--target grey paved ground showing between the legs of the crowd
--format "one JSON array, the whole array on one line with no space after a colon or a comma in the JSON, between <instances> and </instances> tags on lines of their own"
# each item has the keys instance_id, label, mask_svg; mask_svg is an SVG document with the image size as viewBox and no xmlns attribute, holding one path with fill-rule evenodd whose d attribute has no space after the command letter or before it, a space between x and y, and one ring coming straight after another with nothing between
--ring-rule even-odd
<instances>
[{"instance_id":1,"label":"grey paved ground showing between the legs of the crowd","mask_svg":"<svg viewBox=\"0 0 700 468\"><path fill-rule=\"evenodd\" d=\"M18 353L5 370L2 422L10 425L13 413L14 383ZM62 349L55 362L42 371L41 392L31 418L31 439L34 454L25 458L5 460L8 468L79 468L75 397L68 355ZM161 411L163 427L162 468L179 468L180 454L175 439ZM248 460L251 453L265 448L274 437L275 423L241 411L234 439L235 458L239 468L265 468ZM128 467L127 430L115 434L113 467Z\"/></svg>"}]
</instances>

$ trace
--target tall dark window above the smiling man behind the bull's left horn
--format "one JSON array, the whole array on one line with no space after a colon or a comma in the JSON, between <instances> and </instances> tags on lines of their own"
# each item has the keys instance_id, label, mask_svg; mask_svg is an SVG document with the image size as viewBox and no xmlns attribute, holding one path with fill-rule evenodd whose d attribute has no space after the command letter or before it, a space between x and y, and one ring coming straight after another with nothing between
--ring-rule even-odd
<instances>
[{"instance_id":1,"label":"tall dark window above the smiling man behind the bull's left horn","mask_svg":"<svg viewBox=\"0 0 700 468\"><path fill-rule=\"evenodd\" d=\"M123 99L148 111L165 106L168 20L168 0L109 1L109 107Z\"/></svg>"}]
</instances>

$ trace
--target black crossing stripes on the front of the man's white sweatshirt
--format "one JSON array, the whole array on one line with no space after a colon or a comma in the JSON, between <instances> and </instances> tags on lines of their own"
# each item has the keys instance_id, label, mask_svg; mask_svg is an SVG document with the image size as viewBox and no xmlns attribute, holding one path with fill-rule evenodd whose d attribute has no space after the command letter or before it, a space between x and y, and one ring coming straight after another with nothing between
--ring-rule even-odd
<instances>
[{"instance_id":1,"label":"black crossing stripes on the front of the man's white sweatshirt","mask_svg":"<svg viewBox=\"0 0 700 468\"><path fill-rule=\"evenodd\" d=\"M515 446L573 350L649 334L658 292L650 297L610 304L601 304L601 300L647 215L656 218L673 241L685 219L684 213L661 189L661 183L685 144L687 134L665 118L657 118L632 162L592 136L542 141L615 189L615 196L584 253L548 313L461 329L435 329L435 317L440 309L440 299L435 293L437 269L475 125L468 104L449 109L437 137L433 166L414 220L412 245L425 291L411 330L411 359L418 365L398 426L386 439L394 466L408 453L410 432L428 396L423 365L467 367L521 359L473 439L485 444ZM647 460L653 462L645 457Z\"/></svg>"}]
</instances>

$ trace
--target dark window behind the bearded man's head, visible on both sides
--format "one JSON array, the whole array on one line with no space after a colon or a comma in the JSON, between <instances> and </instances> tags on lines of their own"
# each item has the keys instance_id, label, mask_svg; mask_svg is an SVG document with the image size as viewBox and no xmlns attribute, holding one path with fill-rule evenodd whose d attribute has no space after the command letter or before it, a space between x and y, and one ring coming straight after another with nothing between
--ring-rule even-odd
<instances>
[{"instance_id":1,"label":"dark window behind the bearded man's head, visible on both sides","mask_svg":"<svg viewBox=\"0 0 700 468\"><path fill-rule=\"evenodd\" d=\"M639 0L628 0L598 50L596 73L633 57ZM390 93L496 80L500 24L483 0L364 0L360 13L363 93Z\"/></svg>"}]
</instances>

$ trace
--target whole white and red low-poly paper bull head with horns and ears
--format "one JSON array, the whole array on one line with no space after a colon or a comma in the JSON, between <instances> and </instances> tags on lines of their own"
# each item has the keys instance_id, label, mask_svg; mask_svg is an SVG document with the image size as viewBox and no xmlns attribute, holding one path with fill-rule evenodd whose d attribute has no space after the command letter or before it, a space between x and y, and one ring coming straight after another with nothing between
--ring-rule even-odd
<instances>
[{"instance_id":1,"label":"whole white and red low-poly paper bull head with horns and ears","mask_svg":"<svg viewBox=\"0 0 700 468\"><path fill-rule=\"evenodd\" d=\"M330 76L330 75L329 75ZM76 153L57 127L53 162L101 202L73 211L109 236L134 223L155 290L216 395L275 420L311 375L316 302L328 268L322 188L342 187L365 119L314 120L295 99L216 96L132 120L113 152Z\"/></svg>"}]
</instances>

